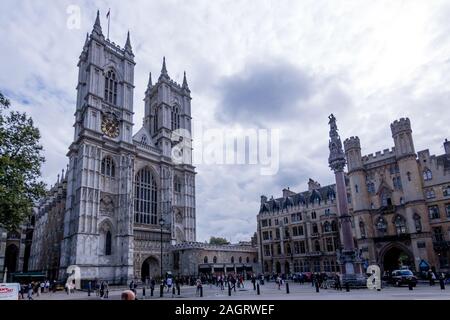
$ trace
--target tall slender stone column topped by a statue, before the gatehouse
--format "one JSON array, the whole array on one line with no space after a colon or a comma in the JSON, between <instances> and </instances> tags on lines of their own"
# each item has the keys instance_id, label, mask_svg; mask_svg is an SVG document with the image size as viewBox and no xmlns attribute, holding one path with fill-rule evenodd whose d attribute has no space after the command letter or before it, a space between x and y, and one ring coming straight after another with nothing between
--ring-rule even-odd
<instances>
[{"instance_id":1,"label":"tall slender stone column topped by a statue, before the gatehouse","mask_svg":"<svg viewBox=\"0 0 450 320\"><path fill-rule=\"evenodd\" d=\"M355 249L352 234L351 216L348 211L347 190L345 188L345 154L342 149L341 138L338 134L336 125L336 118L333 114L329 117L328 124L330 125L330 141L329 149L330 156L328 157L328 164L334 172L336 179L336 194L338 201L338 215L341 220L342 242L343 248L338 252L338 261L341 265L342 280L344 283L349 283L352 286L364 286L366 279L362 273L361 259L359 257L359 250Z\"/></svg>"}]
</instances>

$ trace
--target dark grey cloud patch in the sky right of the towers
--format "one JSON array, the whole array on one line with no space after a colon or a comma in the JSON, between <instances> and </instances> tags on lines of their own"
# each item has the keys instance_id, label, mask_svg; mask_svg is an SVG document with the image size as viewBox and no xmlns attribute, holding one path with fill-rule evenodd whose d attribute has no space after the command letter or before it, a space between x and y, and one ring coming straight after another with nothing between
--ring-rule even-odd
<instances>
[{"instance_id":1,"label":"dark grey cloud patch in the sky right of the towers","mask_svg":"<svg viewBox=\"0 0 450 320\"><path fill-rule=\"evenodd\" d=\"M307 100L314 79L303 70L279 62L250 65L222 79L219 121L272 121L292 116L299 101Z\"/></svg>"}]
</instances>

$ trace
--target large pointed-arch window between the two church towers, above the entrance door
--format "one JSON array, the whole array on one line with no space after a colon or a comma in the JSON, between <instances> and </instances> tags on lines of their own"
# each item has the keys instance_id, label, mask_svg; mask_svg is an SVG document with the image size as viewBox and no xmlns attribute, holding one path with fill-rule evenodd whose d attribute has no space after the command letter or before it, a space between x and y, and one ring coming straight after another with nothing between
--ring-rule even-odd
<instances>
[{"instance_id":1,"label":"large pointed-arch window between the two church towers, above the entrance door","mask_svg":"<svg viewBox=\"0 0 450 320\"><path fill-rule=\"evenodd\" d=\"M158 224L158 188L156 179L148 167L140 170L135 177L134 213L136 223Z\"/></svg>"}]
</instances>

